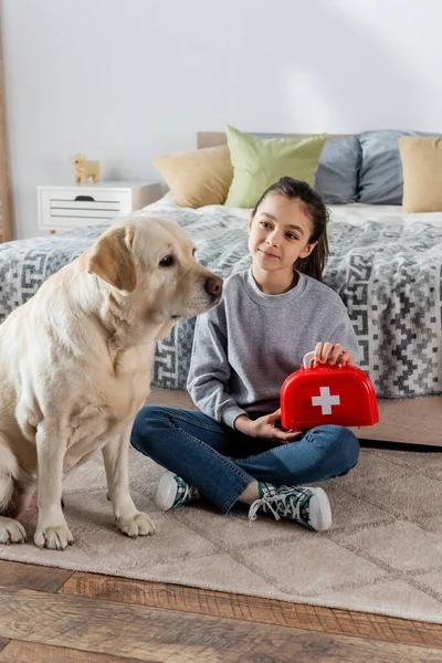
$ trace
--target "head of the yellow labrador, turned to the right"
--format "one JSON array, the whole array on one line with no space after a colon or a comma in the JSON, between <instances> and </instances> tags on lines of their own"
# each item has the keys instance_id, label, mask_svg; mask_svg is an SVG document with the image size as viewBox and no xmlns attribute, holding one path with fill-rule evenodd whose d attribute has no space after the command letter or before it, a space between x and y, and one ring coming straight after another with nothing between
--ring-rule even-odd
<instances>
[{"instance_id":1,"label":"head of the yellow labrador, turned to the right","mask_svg":"<svg viewBox=\"0 0 442 663\"><path fill-rule=\"evenodd\" d=\"M194 317L218 304L222 278L200 265L173 219L133 217L95 242L86 270L130 299L149 322Z\"/></svg>"}]
</instances>

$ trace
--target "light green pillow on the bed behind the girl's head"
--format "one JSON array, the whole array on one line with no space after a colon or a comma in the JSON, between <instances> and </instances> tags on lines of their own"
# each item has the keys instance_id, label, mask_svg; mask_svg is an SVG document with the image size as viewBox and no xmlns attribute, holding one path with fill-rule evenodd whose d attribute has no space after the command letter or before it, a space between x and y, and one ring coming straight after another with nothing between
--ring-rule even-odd
<instances>
[{"instance_id":1,"label":"light green pillow on the bed behind the girl's head","mask_svg":"<svg viewBox=\"0 0 442 663\"><path fill-rule=\"evenodd\" d=\"M225 206L253 208L265 189L288 175L315 186L315 172L327 134L262 139L225 127L233 180Z\"/></svg>"}]
</instances>

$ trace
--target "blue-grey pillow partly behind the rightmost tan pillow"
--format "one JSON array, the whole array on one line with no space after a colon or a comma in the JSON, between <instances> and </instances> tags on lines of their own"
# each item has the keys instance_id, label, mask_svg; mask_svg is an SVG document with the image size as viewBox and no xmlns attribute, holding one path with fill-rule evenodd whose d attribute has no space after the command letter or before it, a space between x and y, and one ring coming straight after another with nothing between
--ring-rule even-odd
<instances>
[{"instance_id":1,"label":"blue-grey pillow partly behind the rightmost tan pillow","mask_svg":"<svg viewBox=\"0 0 442 663\"><path fill-rule=\"evenodd\" d=\"M359 134L362 164L359 171L358 202L402 204L403 176L399 152L401 136L441 136L441 134L397 129Z\"/></svg>"}]
</instances>

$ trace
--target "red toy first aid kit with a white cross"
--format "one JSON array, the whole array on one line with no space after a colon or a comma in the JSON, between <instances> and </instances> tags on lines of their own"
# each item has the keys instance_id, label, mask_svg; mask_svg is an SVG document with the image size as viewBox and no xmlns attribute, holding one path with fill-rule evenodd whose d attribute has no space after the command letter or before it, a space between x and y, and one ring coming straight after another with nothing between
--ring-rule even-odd
<instances>
[{"instance_id":1,"label":"red toy first aid kit with a white cross","mask_svg":"<svg viewBox=\"0 0 442 663\"><path fill-rule=\"evenodd\" d=\"M334 423L345 427L373 425L379 421L375 387L356 366L311 368L314 352L281 388L281 423L285 429L306 430Z\"/></svg>"}]
</instances>

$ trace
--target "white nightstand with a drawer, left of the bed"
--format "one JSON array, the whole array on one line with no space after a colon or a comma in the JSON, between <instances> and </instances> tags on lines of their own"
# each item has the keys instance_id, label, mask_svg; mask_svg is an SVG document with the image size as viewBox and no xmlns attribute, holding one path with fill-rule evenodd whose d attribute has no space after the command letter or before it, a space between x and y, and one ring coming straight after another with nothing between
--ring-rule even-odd
<instances>
[{"instance_id":1,"label":"white nightstand with a drawer, left of the bed","mask_svg":"<svg viewBox=\"0 0 442 663\"><path fill-rule=\"evenodd\" d=\"M39 230L55 232L113 221L155 202L162 193L159 182L38 187Z\"/></svg>"}]
</instances>

